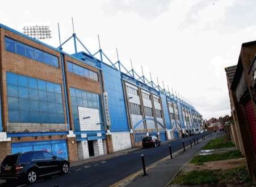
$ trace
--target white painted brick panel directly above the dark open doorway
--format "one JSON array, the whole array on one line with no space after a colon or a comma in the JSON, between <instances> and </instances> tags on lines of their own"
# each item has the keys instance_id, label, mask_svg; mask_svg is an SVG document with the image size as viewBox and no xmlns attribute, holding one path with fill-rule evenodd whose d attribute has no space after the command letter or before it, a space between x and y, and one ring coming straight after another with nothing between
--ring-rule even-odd
<instances>
[{"instance_id":1,"label":"white painted brick panel directly above the dark open doorway","mask_svg":"<svg viewBox=\"0 0 256 187\"><path fill-rule=\"evenodd\" d=\"M100 131L100 117L98 109L78 107L78 116L81 131Z\"/></svg>"}]
</instances>

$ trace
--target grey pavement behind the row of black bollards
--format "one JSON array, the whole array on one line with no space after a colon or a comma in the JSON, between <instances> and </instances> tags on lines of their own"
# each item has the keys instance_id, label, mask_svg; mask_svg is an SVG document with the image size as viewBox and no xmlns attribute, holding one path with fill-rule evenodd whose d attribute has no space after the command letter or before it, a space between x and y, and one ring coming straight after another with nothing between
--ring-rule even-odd
<instances>
[{"instance_id":1,"label":"grey pavement behind the row of black bollards","mask_svg":"<svg viewBox=\"0 0 256 187\"><path fill-rule=\"evenodd\" d=\"M137 177L133 177L133 179L127 179L123 181L121 184L116 186L167 186L168 182L173 179L173 177L182 169L183 166L186 166L188 162L202 149L202 147L209 142L210 140L223 136L223 132L213 133L208 139L204 141L200 141L199 144L192 145L186 147L186 151L179 151L177 155L170 159L167 156L160 163L157 163L156 166L149 168L146 172L146 176L142 176L142 172ZM145 158L146 159L146 158Z\"/></svg>"}]
</instances>

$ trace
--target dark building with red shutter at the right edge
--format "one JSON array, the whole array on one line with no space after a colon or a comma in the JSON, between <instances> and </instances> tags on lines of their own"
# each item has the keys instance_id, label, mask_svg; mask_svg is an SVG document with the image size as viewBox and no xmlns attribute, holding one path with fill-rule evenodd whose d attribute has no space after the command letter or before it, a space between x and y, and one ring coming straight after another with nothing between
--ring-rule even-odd
<instances>
[{"instance_id":1,"label":"dark building with red shutter at the right edge","mask_svg":"<svg viewBox=\"0 0 256 187\"><path fill-rule=\"evenodd\" d=\"M255 54L256 41L244 43L237 65L225 68L233 117L232 140L245 155L252 177L256 175Z\"/></svg>"}]
</instances>

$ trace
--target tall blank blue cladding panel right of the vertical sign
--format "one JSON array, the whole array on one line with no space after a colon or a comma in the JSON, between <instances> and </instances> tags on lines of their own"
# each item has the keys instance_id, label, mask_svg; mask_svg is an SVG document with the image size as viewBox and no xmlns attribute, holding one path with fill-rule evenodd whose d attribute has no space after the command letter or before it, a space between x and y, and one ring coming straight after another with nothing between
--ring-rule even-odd
<instances>
[{"instance_id":1,"label":"tall blank blue cladding panel right of the vertical sign","mask_svg":"<svg viewBox=\"0 0 256 187\"><path fill-rule=\"evenodd\" d=\"M129 131L120 72L102 63L104 89L108 93L111 131Z\"/></svg>"}]
</instances>

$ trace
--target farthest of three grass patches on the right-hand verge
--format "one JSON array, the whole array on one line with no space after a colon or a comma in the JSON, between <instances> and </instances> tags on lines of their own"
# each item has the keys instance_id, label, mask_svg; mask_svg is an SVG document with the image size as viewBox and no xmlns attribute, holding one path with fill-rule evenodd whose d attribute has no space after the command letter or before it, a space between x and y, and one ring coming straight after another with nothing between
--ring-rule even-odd
<instances>
[{"instance_id":1,"label":"farthest of three grass patches on the right-hand verge","mask_svg":"<svg viewBox=\"0 0 256 187\"><path fill-rule=\"evenodd\" d=\"M233 147L234 143L231 140L228 140L228 136L223 136L211 140L203 147L203 149L219 149L224 147Z\"/></svg>"}]
</instances>

